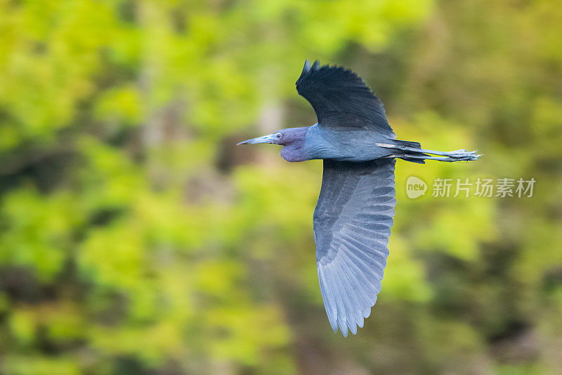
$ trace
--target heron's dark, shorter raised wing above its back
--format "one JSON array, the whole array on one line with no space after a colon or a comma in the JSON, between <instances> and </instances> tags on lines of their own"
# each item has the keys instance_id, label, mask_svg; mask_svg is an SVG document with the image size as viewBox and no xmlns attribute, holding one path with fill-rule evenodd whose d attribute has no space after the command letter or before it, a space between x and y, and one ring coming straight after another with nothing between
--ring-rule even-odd
<instances>
[{"instance_id":1,"label":"heron's dark, shorter raised wing above its back","mask_svg":"<svg viewBox=\"0 0 562 375\"><path fill-rule=\"evenodd\" d=\"M394 135L382 102L351 70L307 60L296 91L311 103L320 126L367 127Z\"/></svg>"}]
</instances>

